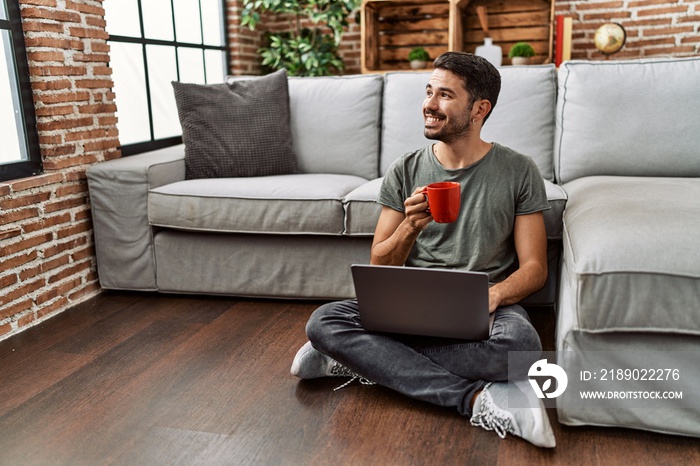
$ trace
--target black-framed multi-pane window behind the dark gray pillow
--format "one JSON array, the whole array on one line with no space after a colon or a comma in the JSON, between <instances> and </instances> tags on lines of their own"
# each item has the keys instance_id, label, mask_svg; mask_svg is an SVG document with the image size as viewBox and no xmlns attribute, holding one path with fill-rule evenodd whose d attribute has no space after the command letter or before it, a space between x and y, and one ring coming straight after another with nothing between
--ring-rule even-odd
<instances>
[{"instance_id":1,"label":"black-framed multi-pane window behind the dark gray pillow","mask_svg":"<svg viewBox=\"0 0 700 466\"><path fill-rule=\"evenodd\" d=\"M171 81L224 82L224 0L105 0L122 155L182 142Z\"/></svg>"}]
</instances>

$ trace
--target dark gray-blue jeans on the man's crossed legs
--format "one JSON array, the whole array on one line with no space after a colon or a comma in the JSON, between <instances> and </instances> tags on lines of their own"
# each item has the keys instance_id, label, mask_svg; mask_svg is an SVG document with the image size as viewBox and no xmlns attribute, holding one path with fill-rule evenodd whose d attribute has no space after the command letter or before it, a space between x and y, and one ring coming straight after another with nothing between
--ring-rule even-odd
<instances>
[{"instance_id":1,"label":"dark gray-blue jeans on the man's crossed legs","mask_svg":"<svg viewBox=\"0 0 700 466\"><path fill-rule=\"evenodd\" d=\"M487 382L508 379L509 351L542 351L537 331L518 305L496 310L491 336L484 341L368 332L356 300L321 306L306 333L314 348L358 375L466 416L471 416L472 397ZM536 360L526 361L522 370Z\"/></svg>"}]
</instances>

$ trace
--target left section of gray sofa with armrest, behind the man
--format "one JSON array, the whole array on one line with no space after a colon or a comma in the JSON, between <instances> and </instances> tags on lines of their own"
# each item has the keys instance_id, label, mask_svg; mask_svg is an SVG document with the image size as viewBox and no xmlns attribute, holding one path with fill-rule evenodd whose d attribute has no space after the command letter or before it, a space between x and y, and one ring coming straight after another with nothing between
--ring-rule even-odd
<instances>
[{"instance_id":1,"label":"left section of gray sofa with armrest, behind the man","mask_svg":"<svg viewBox=\"0 0 700 466\"><path fill-rule=\"evenodd\" d=\"M504 68L485 137L532 155L547 212L550 279L530 303L553 304L566 196L553 180L552 66ZM354 296L350 264L367 263L381 175L430 144L421 104L429 73L290 78L302 173L185 180L184 146L88 171L104 289L253 297Z\"/></svg>"}]
</instances>

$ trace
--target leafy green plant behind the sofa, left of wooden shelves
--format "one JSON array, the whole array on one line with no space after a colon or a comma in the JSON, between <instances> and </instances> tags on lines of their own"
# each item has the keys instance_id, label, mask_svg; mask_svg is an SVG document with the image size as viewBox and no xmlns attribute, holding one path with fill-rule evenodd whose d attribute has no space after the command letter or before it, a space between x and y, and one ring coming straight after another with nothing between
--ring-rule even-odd
<instances>
[{"instance_id":1,"label":"leafy green plant behind the sofa, left of wooden shelves","mask_svg":"<svg viewBox=\"0 0 700 466\"><path fill-rule=\"evenodd\" d=\"M360 0L244 0L241 26L255 30L264 13L289 17L289 30L265 33L268 45L258 50L263 67L285 69L292 76L326 76L343 69L338 54L340 36L349 25L348 17L360 3ZM329 29L331 34L326 32Z\"/></svg>"}]
</instances>

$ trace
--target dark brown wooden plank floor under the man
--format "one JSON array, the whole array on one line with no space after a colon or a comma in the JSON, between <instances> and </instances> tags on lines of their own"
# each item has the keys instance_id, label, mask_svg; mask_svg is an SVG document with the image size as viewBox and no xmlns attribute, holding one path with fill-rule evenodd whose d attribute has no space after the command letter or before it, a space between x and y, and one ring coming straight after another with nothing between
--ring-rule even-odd
<instances>
[{"instance_id":1,"label":"dark brown wooden plank floor under the man","mask_svg":"<svg viewBox=\"0 0 700 466\"><path fill-rule=\"evenodd\" d=\"M499 439L378 386L289 374L318 303L103 293L0 342L1 465L700 464L698 439ZM545 349L551 310L533 310Z\"/></svg>"}]
</instances>

